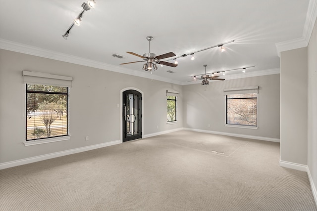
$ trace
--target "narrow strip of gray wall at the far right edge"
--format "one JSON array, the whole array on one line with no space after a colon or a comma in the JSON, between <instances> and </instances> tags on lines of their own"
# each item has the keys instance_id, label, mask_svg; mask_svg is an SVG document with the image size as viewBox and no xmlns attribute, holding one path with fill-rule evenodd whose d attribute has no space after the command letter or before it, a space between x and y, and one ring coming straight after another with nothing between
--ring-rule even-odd
<instances>
[{"instance_id":1,"label":"narrow strip of gray wall at the far right edge","mask_svg":"<svg viewBox=\"0 0 317 211\"><path fill-rule=\"evenodd\" d=\"M308 168L317 189L317 22L308 45ZM317 196L316 196L317 197Z\"/></svg>"}]
</instances>

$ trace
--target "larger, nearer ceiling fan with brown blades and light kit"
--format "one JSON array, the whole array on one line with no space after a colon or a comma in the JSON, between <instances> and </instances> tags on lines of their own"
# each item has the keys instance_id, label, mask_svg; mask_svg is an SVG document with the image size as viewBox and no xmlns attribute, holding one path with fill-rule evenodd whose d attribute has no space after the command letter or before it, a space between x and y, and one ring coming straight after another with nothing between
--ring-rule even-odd
<instances>
[{"instance_id":1,"label":"larger, nearer ceiling fan with brown blades and light kit","mask_svg":"<svg viewBox=\"0 0 317 211\"><path fill-rule=\"evenodd\" d=\"M137 63L137 62L146 62L143 65L143 68L142 68L145 71L152 71L152 69L157 70L158 69L157 64L166 65L166 66L170 66L170 67L176 67L177 66L177 64L174 64L174 63L160 61L160 59L165 59L165 58L168 58L168 57L176 56L175 53L169 52L169 53L165 53L165 54L156 56L155 53L151 53L151 41L153 40L153 37L148 36L147 40L149 41L149 52L143 54L143 56L141 56L139 54L136 54L136 53L133 53L133 52L128 52L127 51L127 53L130 53L132 55L141 57L143 59L142 61L127 62L127 63L121 63L121 64L131 64L131 63Z\"/></svg>"}]
</instances>

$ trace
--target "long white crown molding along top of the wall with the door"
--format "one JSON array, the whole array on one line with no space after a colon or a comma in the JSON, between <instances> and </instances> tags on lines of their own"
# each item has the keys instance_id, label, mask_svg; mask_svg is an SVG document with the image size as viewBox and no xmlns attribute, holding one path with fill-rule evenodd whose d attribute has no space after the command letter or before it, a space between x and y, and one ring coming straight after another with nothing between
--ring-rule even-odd
<instances>
[{"instance_id":1,"label":"long white crown molding along top of the wall with the door","mask_svg":"<svg viewBox=\"0 0 317 211\"><path fill-rule=\"evenodd\" d=\"M117 72L117 73L122 73L122 74L142 77L142 78L147 78L147 79L151 79L151 80L167 82L167 83L171 83L171 84L179 84L179 85L182 84L179 81L156 76L155 74L150 74L150 72L141 72L141 71L137 71L137 70L130 70L127 68L122 68L122 67L110 65L107 63L98 62L98 61L91 60L91 59L85 59L85 58L81 58L78 56L72 56L72 55L65 54L65 53L59 53L56 51L51 51L51 50L47 50L47 49L43 49L43 48L31 46L31 45L21 44L18 42L7 41L7 40L3 40L3 39L0 39L0 49L10 50L10 51L19 52L19 53L25 53L25 54L29 54L29 55L33 55L33 56L39 56L39 57L43 57L43 58L68 62L68 63L72 63L72 64L83 65L83 66L87 66L87 67L98 68L98 69L102 69L102 70L107 70L107 71L112 71L112 72Z\"/></svg>"}]
</instances>

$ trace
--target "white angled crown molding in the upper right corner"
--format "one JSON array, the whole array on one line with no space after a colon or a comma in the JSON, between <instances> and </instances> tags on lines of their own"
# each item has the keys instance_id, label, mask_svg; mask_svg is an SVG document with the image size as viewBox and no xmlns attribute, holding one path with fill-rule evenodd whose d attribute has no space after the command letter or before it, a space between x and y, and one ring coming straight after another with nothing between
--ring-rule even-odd
<instances>
[{"instance_id":1,"label":"white angled crown molding in the upper right corner","mask_svg":"<svg viewBox=\"0 0 317 211\"><path fill-rule=\"evenodd\" d=\"M277 55L280 57L280 52L293 50L301 47L307 47L311 39L314 25L317 18L317 0L310 0L308 4L306 20L303 30L303 36L290 41L275 43Z\"/></svg>"}]
</instances>

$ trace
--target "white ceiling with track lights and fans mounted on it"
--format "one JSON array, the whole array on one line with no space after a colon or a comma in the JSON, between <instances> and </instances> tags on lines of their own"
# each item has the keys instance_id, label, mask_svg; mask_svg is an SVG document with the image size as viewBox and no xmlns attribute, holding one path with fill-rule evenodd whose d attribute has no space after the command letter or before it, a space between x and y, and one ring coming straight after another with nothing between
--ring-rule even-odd
<instances>
[{"instance_id":1,"label":"white ceiling with track lights and fans mounted on it","mask_svg":"<svg viewBox=\"0 0 317 211\"><path fill-rule=\"evenodd\" d=\"M2 0L0 47L15 44L44 57L188 84L191 76L204 73L204 64L208 64L207 72L253 65L247 72L278 69L275 43L303 37L309 7L309 0L96 0L95 8L83 14L81 25L74 26L64 40L62 35L83 2ZM214 47L194 54L195 60L181 57L176 68L159 66L153 75L142 70L141 62L119 65L142 60L126 51L148 52L147 36L154 37L151 52L157 55L171 51L180 56L235 42L224 45L222 53ZM112 57L113 53L127 58ZM242 73L226 75L230 74Z\"/></svg>"}]
</instances>

